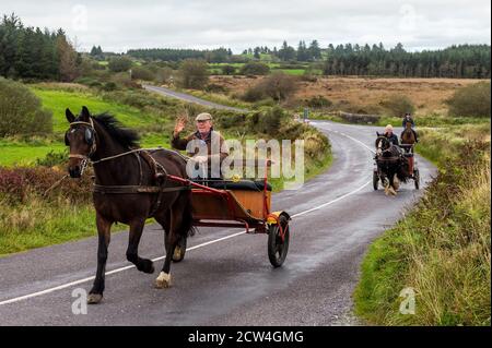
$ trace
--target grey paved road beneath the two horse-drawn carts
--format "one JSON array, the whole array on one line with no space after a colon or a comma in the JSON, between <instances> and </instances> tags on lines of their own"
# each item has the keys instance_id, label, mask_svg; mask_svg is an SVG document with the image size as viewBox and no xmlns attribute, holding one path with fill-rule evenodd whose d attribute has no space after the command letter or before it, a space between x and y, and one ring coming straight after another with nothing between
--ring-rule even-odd
<instances>
[{"instance_id":1,"label":"grey paved road beneath the two horse-drawn carts","mask_svg":"<svg viewBox=\"0 0 492 348\"><path fill-rule=\"evenodd\" d=\"M284 266L272 268L267 237L200 228L184 262L173 265L174 287L153 288L156 276L129 266L127 232L113 236L105 299L87 314L72 313L72 291L89 290L96 238L0 259L0 325L345 325L351 295L368 244L422 194L413 183L397 196L373 191L376 128L313 122L332 144L335 160L301 191L272 197L293 215ZM398 130L397 130L398 132ZM418 157L422 185L434 167ZM229 238L227 238L229 237ZM161 257L163 232L148 226L140 253ZM156 268L162 266L162 260ZM114 272L113 272L114 271Z\"/></svg>"}]
</instances>

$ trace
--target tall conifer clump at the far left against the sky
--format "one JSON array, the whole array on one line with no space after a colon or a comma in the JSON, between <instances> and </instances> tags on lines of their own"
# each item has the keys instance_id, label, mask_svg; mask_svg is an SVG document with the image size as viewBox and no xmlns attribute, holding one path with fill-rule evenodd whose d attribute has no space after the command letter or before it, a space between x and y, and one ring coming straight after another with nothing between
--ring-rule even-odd
<instances>
[{"instance_id":1,"label":"tall conifer clump at the far left against the sky","mask_svg":"<svg viewBox=\"0 0 492 348\"><path fill-rule=\"evenodd\" d=\"M81 57L65 32L26 27L15 14L0 22L0 75L10 79L73 81Z\"/></svg>"}]
</instances>

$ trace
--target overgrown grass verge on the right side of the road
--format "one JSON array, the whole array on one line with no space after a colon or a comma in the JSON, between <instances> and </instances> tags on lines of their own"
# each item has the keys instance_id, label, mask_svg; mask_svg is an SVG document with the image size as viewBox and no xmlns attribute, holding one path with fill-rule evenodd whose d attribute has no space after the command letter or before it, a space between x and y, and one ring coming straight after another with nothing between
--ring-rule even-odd
<instances>
[{"instance_id":1,"label":"overgrown grass verge on the right side of the road","mask_svg":"<svg viewBox=\"0 0 492 348\"><path fill-rule=\"evenodd\" d=\"M371 245L355 313L377 325L490 325L490 124L425 130L419 151L441 173ZM406 288L414 314L399 311Z\"/></svg>"}]
</instances>

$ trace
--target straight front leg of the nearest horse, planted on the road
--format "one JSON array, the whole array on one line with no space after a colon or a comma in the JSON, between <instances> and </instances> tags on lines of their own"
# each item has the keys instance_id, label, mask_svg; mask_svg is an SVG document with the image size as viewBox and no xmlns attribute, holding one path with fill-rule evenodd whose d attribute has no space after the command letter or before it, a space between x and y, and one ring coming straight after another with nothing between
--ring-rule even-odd
<instances>
[{"instance_id":1,"label":"straight front leg of the nearest horse, planted on the road","mask_svg":"<svg viewBox=\"0 0 492 348\"><path fill-rule=\"evenodd\" d=\"M104 276L106 272L107 248L110 241L110 229L113 221L105 219L99 214L96 215L96 226L98 235L97 247L97 271L94 285L89 292L87 303L95 304L103 299Z\"/></svg>"}]
</instances>

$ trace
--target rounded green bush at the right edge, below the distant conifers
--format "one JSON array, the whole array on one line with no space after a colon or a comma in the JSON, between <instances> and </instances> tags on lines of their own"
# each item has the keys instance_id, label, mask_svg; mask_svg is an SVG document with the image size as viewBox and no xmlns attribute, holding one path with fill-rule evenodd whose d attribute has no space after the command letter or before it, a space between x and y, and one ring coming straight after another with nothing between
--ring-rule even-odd
<instances>
[{"instance_id":1,"label":"rounded green bush at the right edge, below the distant conifers","mask_svg":"<svg viewBox=\"0 0 492 348\"><path fill-rule=\"evenodd\" d=\"M490 117L490 82L461 87L446 100L450 116Z\"/></svg>"}]
</instances>

